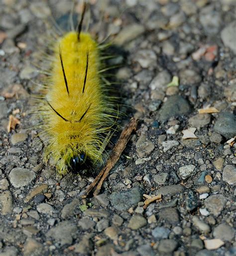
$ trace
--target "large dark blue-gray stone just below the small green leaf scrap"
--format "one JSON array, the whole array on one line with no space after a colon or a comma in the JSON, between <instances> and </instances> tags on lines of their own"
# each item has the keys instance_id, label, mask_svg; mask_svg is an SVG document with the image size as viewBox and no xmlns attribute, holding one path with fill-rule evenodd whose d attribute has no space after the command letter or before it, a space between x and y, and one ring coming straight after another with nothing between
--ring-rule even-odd
<instances>
[{"instance_id":1,"label":"large dark blue-gray stone just below the small green leaf scrap","mask_svg":"<svg viewBox=\"0 0 236 256\"><path fill-rule=\"evenodd\" d=\"M171 96L161 107L159 120L165 121L171 117L186 115L190 112L189 103L179 95Z\"/></svg>"}]
</instances>

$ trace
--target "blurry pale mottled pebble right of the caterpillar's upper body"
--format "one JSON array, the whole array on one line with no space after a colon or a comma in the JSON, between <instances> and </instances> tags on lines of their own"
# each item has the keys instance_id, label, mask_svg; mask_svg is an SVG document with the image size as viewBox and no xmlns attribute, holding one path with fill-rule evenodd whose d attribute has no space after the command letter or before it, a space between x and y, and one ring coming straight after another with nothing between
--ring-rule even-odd
<instances>
[{"instance_id":1,"label":"blurry pale mottled pebble right of the caterpillar's upper body","mask_svg":"<svg viewBox=\"0 0 236 256\"><path fill-rule=\"evenodd\" d=\"M135 53L135 58L142 68L153 69L156 66L157 57L152 50L139 50Z\"/></svg>"}]
</instances>

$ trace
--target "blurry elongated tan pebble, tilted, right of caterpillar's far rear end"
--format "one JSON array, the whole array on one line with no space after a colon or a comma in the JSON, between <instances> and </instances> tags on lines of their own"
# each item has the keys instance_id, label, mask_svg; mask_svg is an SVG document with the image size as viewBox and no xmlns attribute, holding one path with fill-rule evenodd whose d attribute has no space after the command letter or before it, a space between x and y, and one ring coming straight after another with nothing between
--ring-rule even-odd
<instances>
[{"instance_id":1,"label":"blurry elongated tan pebble, tilted, right of caterpillar's far rear end","mask_svg":"<svg viewBox=\"0 0 236 256\"><path fill-rule=\"evenodd\" d=\"M145 31L145 28L141 24L130 24L123 26L119 31L119 36L114 39L114 44L122 45L126 42L132 41L134 38L140 36Z\"/></svg>"}]
</instances>

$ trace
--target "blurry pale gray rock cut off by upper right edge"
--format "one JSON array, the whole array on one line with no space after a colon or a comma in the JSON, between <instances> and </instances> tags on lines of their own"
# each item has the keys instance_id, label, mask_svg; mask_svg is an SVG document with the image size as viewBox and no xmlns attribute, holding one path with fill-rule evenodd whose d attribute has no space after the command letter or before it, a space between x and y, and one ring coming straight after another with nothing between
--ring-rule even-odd
<instances>
[{"instance_id":1,"label":"blurry pale gray rock cut off by upper right edge","mask_svg":"<svg viewBox=\"0 0 236 256\"><path fill-rule=\"evenodd\" d=\"M221 31L221 39L225 46L236 53L236 21L231 22Z\"/></svg>"}]
</instances>

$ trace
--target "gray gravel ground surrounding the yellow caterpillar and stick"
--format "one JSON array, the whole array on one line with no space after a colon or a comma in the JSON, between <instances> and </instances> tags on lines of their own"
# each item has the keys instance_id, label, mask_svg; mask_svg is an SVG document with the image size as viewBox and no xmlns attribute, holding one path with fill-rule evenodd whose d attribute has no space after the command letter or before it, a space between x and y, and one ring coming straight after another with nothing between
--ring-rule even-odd
<instances>
[{"instance_id":1,"label":"gray gravel ground surrounding the yellow caterpillar and stick","mask_svg":"<svg viewBox=\"0 0 236 256\"><path fill-rule=\"evenodd\" d=\"M236 255L235 0L91 2L91 33L123 52L121 126L138 128L99 196L44 165L32 63L71 1L1 0L0 256Z\"/></svg>"}]
</instances>

